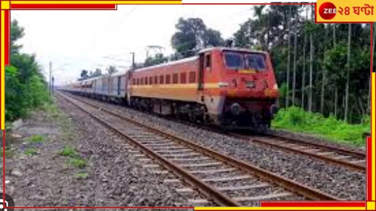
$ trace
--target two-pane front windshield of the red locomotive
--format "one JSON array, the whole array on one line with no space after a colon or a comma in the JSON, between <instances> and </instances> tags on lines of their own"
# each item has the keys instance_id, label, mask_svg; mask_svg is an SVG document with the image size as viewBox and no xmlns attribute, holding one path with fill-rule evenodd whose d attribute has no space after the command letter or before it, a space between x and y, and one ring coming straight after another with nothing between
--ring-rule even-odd
<instances>
[{"instance_id":1,"label":"two-pane front windshield of the red locomotive","mask_svg":"<svg viewBox=\"0 0 376 211\"><path fill-rule=\"evenodd\" d=\"M225 52L224 60L230 69L264 70L265 61L261 54Z\"/></svg>"}]
</instances>

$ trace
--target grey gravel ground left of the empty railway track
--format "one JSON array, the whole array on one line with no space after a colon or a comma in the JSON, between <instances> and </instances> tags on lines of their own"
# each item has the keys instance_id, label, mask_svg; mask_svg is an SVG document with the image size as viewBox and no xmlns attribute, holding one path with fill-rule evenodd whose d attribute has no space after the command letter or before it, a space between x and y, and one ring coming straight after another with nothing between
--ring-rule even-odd
<instances>
[{"instance_id":1,"label":"grey gravel ground left of the empty railway track","mask_svg":"<svg viewBox=\"0 0 376 211\"><path fill-rule=\"evenodd\" d=\"M68 131L44 111L35 112L13 131L22 140L12 143L15 157L6 158L6 193L16 206L192 206L188 203L192 196L176 192L175 186L181 182L164 183L171 174L156 174L143 168L144 163L127 152L125 140L119 141L119 137L67 101L57 103L71 119ZM65 139L67 133L73 136ZM24 155L22 142L32 134L44 136L45 141L34 146L36 155ZM74 167L70 158L58 155L67 145L77 149L77 154L86 160L86 167ZM79 173L86 177L77 176Z\"/></svg>"}]
</instances>

